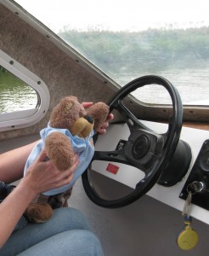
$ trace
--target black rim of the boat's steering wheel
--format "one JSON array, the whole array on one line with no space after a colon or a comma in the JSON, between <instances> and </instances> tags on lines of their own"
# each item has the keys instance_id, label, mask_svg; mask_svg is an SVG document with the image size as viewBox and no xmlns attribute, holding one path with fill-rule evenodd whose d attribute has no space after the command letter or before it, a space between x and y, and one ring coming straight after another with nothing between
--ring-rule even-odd
<instances>
[{"instance_id":1,"label":"black rim of the boat's steering wheel","mask_svg":"<svg viewBox=\"0 0 209 256\"><path fill-rule=\"evenodd\" d=\"M169 162L170 158L172 157L172 154L174 153L178 145L178 140L179 140L180 132L182 128L182 120L183 120L182 102L178 94L178 90L167 79L161 76L156 76L156 75L143 76L138 79L134 79L133 81L123 86L120 90L116 92L116 95L113 96L108 102L108 105L110 106L110 112L113 109L118 109L119 106L121 106L121 100L125 96L127 96L130 92L140 87L143 87L144 85L147 85L147 84L160 84L164 86L167 89L172 99L172 109L173 109L172 116L169 119L167 139L163 144L161 157L158 157L155 160L154 165L150 168L149 174L146 175L144 179L140 180L137 183L136 188L133 190L131 194L114 201L107 201L99 197L99 195L93 189L93 186L90 183L88 178L88 172L91 172L91 171L87 170L86 172L84 172L82 174L82 183L86 191L86 194L95 204L101 207L108 207L108 208L124 207L132 203L133 201L138 200L138 198L140 198L141 196L145 195L155 185L155 183L161 176L161 172L163 171L163 166L167 166L167 163ZM130 116L128 112L125 112L123 114L123 118L126 122L127 122L127 119L129 119L129 117ZM134 117L131 117L131 118L134 118ZM132 129L131 125L128 125L128 126L130 129ZM95 151L93 160L99 160L98 151ZM111 159L106 159L106 160L111 160ZM118 161L122 162L122 160L118 160Z\"/></svg>"}]
</instances>

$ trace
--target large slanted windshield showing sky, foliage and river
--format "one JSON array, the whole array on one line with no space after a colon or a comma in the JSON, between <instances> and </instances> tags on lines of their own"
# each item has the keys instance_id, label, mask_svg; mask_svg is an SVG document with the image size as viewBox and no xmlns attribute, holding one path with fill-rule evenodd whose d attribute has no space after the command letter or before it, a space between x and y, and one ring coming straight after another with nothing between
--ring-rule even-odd
<instances>
[{"instance_id":1,"label":"large slanted windshield showing sky, foliage and river","mask_svg":"<svg viewBox=\"0 0 209 256\"><path fill-rule=\"evenodd\" d=\"M17 2L117 84L157 74L178 88L185 105L208 105L208 1ZM154 86L134 96L167 103L156 94Z\"/></svg>"}]
</instances>

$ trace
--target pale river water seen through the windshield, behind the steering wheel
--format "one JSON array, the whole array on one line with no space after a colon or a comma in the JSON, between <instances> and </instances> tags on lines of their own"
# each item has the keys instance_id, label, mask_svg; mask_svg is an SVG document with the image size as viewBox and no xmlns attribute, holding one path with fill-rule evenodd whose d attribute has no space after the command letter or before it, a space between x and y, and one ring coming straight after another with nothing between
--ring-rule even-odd
<instances>
[{"instance_id":1,"label":"pale river water seen through the windshield, behind the steering wheel","mask_svg":"<svg viewBox=\"0 0 209 256\"><path fill-rule=\"evenodd\" d=\"M174 85L181 96L182 102L186 104L209 105L209 68L187 68L169 69L156 73L168 79ZM118 83L127 84L144 74L127 75ZM171 103L170 96L162 86L151 84L133 92L133 96L146 103L167 104Z\"/></svg>"}]
</instances>

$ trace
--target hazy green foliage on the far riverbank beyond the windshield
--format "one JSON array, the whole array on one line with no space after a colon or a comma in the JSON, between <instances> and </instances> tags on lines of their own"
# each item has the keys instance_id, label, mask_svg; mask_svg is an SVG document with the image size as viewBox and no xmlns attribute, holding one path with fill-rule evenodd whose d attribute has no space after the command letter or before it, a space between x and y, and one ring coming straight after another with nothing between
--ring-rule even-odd
<instances>
[{"instance_id":1,"label":"hazy green foliage on the far riverbank beyond the windshield","mask_svg":"<svg viewBox=\"0 0 209 256\"><path fill-rule=\"evenodd\" d=\"M190 66L209 59L209 27L188 29L148 29L144 32L93 30L59 32L74 49L104 73L148 68ZM76 48L75 48L76 47Z\"/></svg>"}]
</instances>

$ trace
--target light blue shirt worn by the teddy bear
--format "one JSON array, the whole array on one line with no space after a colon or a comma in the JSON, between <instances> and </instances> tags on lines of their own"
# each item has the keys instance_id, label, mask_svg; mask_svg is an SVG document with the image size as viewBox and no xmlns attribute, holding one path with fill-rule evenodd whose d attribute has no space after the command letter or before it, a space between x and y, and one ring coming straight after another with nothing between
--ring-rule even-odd
<instances>
[{"instance_id":1,"label":"light blue shirt worn by the teddy bear","mask_svg":"<svg viewBox=\"0 0 209 256\"><path fill-rule=\"evenodd\" d=\"M44 142L46 137L48 137L48 135L54 131L59 131L65 134L69 138L74 151L79 155L79 164L76 168L76 171L74 172L74 176L70 184L62 186L58 189L51 189L47 192L42 193L43 195L56 195L66 191L67 189L71 189L71 187L76 182L76 179L78 177L81 177L82 172L84 172L87 169L94 154L94 147L93 147L94 131L92 131L88 137L82 138L78 136L72 136L71 131L67 129L56 129L48 125L47 128L44 128L42 129L42 131L40 131L42 140L39 141L37 145L32 149L31 154L29 155L25 163L24 175L25 175L25 172L27 172L28 167L31 166L34 160L37 159L37 156L42 152L42 148L44 148Z\"/></svg>"}]
</instances>

